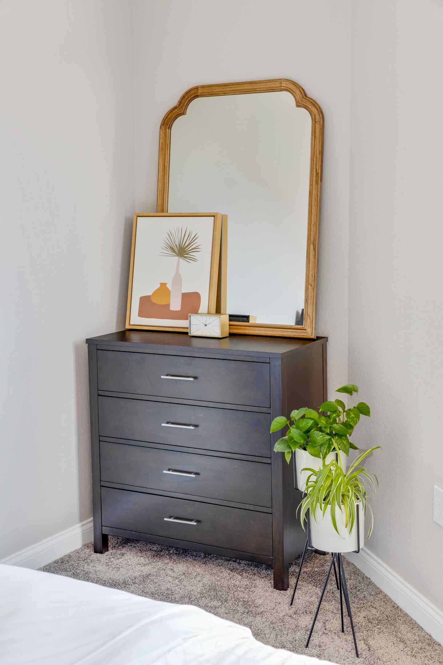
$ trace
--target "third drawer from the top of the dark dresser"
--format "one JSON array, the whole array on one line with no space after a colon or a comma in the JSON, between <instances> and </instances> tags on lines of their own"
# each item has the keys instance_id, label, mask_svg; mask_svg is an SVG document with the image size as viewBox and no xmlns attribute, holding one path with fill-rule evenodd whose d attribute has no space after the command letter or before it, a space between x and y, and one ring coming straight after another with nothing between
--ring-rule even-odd
<instances>
[{"instance_id":1,"label":"third drawer from the top of the dark dresser","mask_svg":"<svg viewBox=\"0 0 443 665\"><path fill-rule=\"evenodd\" d=\"M271 465L100 442L103 481L271 507ZM166 473L165 473L166 471ZM173 471L171 473L170 471ZM180 475L180 474L188 475Z\"/></svg>"}]
</instances>

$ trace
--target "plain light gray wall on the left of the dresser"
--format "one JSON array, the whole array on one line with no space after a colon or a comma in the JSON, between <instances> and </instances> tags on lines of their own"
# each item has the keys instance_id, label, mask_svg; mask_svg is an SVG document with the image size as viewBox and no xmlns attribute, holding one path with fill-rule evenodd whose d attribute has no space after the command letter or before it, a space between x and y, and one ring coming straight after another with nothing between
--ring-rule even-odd
<instances>
[{"instance_id":1,"label":"plain light gray wall on the left of the dresser","mask_svg":"<svg viewBox=\"0 0 443 665\"><path fill-rule=\"evenodd\" d=\"M0 559L91 515L84 338L124 326L132 19L0 5Z\"/></svg>"}]
</instances>

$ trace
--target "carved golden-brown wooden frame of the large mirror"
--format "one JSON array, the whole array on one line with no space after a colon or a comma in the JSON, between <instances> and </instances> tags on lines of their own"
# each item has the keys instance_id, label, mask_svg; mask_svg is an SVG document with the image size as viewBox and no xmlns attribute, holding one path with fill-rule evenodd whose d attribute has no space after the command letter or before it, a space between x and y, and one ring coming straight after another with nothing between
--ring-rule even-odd
<instances>
[{"instance_id":1,"label":"carved golden-brown wooden frame of the large mirror","mask_svg":"<svg viewBox=\"0 0 443 665\"><path fill-rule=\"evenodd\" d=\"M277 325L268 323L230 323L232 334L258 334L277 337L315 337L315 295L317 287L318 219L320 205L321 166L323 161L323 112L304 89L288 78L246 81L242 83L218 83L189 88L169 109L160 125L159 172L157 184L157 212L168 211L169 155L171 127L177 118L185 115L191 102L199 97L226 94L251 94L254 92L290 92L296 106L306 108L311 116L311 160L308 203L308 238L306 243L306 277L304 301L304 325ZM183 211L181 211L183 212ZM223 211L228 213L228 211ZM229 215L228 215L229 217Z\"/></svg>"}]
</instances>

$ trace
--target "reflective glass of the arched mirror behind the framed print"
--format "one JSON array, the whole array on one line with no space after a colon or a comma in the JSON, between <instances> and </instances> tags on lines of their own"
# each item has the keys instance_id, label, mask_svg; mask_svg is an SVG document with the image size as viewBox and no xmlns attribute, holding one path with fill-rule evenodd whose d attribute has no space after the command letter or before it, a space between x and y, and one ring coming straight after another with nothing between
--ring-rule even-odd
<instances>
[{"instance_id":1,"label":"reflective glass of the arched mirror behind the framed print","mask_svg":"<svg viewBox=\"0 0 443 665\"><path fill-rule=\"evenodd\" d=\"M173 123L168 211L228 215L230 315L303 325L310 151L286 91L197 98Z\"/></svg>"}]
</instances>

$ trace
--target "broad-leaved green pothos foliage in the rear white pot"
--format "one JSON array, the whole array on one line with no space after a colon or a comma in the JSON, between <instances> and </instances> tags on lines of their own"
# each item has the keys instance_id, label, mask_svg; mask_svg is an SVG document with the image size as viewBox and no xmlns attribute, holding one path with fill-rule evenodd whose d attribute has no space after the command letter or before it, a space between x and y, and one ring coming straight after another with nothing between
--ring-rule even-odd
<instances>
[{"instance_id":1,"label":"broad-leaved green pothos foliage in the rear white pot","mask_svg":"<svg viewBox=\"0 0 443 665\"><path fill-rule=\"evenodd\" d=\"M285 427L286 434L276 442L274 450L284 453L286 462L297 448L306 450L310 455L325 460L333 450L349 455L349 449L358 450L349 437L360 420L360 416L371 416L371 409L365 402L353 404L353 395L359 392L355 384L350 383L335 392L341 392L351 397L351 406L346 407L342 400L323 402L314 409L303 406L294 410L290 420L285 416L277 416L271 424L271 432L278 432Z\"/></svg>"}]
</instances>

